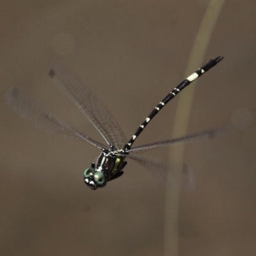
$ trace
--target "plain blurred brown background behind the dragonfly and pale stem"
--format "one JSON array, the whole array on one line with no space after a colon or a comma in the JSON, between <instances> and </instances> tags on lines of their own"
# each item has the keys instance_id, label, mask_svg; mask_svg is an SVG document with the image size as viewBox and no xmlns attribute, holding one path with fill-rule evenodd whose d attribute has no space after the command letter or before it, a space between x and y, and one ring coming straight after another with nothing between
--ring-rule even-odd
<instances>
[{"instance_id":1,"label":"plain blurred brown background behind the dragonfly and pale stem","mask_svg":"<svg viewBox=\"0 0 256 256\"><path fill-rule=\"evenodd\" d=\"M1 93L15 86L104 143L47 76L56 58L130 138L184 79L208 3L2 0ZM188 133L225 124L234 131L186 145L197 184L180 195L182 256L256 253L255 10L255 1L225 1L205 53L204 63L225 59L198 80ZM129 161L120 179L91 191L83 172L98 148L35 129L3 97L0 105L0 255L163 255L163 184ZM176 106L177 98L135 145L170 138ZM168 161L170 148L145 154Z\"/></svg>"}]
</instances>

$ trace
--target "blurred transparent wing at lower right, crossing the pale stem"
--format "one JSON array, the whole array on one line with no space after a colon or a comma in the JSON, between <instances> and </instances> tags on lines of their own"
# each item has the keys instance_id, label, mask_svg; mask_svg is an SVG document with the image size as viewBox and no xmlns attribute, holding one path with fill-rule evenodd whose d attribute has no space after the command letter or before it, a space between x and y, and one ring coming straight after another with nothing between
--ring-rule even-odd
<instances>
[{"instance_id":1,"label":"blurred transparent wing at lower right, crossing the pale stem","mask_svg":"<svg viewBox=\"0 0 256 256\"><path fill-rule=\"evenodd\" d=\"M125 156L125 155L124 155ZM166 163L160 159L129 154L127 158L135 160L145 167L157 180L171 188L195 188L196 179L185 163Z\"/></svg>"}]
</instances>

